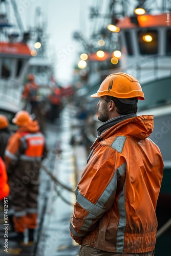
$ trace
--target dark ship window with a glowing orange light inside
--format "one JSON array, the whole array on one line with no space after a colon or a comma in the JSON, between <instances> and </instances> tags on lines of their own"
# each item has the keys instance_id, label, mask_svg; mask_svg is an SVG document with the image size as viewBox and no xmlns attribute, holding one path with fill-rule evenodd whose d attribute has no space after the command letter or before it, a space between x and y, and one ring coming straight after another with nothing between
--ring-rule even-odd
<instances>
[{"instance_id":1,"label":"dark ship window with a glowing orange light inside","mask_svg":"<svg viewBox=\"0 0 171 256\"><path fill-rule=\"evenodd\" d=\"M158 53L158 31L142 29L137 32L140 54Z\"/></svg>"}]
</instances>

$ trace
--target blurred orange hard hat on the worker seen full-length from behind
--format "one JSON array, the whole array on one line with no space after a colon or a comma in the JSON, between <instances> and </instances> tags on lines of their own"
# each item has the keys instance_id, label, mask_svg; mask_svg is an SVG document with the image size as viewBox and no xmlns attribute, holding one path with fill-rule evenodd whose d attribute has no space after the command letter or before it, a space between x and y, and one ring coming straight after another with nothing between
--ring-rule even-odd
<instances>
[{"instance_id":1,"label":"blurred orange hard hat on the worker seen full-length from behind","mask_svg":"<svg viewBox=\"0 0 171 256\"><path fill-rule=\"evenodd\" d=\"M15 123L18 126L23 126L26 123L29 123L32 120L29 112L25 110L20 110L16 113L14 118L12 119L12 122Z\"/></svg>"}]
</instances>

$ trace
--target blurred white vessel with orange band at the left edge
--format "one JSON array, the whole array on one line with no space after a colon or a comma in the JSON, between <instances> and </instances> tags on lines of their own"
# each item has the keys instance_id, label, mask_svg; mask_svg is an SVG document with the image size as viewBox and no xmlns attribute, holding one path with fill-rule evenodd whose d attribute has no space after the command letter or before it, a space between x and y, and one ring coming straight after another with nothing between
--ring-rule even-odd
<instances>
[{"instance_id":1,"label":"blurred white vessel with orange band at the left edge","mask_svg":"<svg viewBox=\"0 0 171 256\"><path fill-rule=\"evenodd\" d=\"M29 34L24 32L14 1L13 18L9 20L7 1L0 3L0 113L11 120L22 109L23 80L31 52L27 44Z\"/></svg>"}]
</instances>

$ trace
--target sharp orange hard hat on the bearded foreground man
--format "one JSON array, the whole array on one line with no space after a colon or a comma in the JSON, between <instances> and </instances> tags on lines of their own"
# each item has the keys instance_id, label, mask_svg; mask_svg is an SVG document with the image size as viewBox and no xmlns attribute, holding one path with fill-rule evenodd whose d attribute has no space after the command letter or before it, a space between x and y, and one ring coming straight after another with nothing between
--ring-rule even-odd
<instances>
[{"instance_id":1,"label":"sharp orange hard hat on the bearded foreground man","mask_svg":"<svg viewBox=\"0 0 171 256\"><path fill-rule=\"evenodd\" d=\"M124 100L122 99L135 97L140 100L145 99L139 81L134 76L121 72L107 76L97 93L91 95L91 97L97 98L104 95L121 99L123 103Z\"/></svg>"}]
</instances>

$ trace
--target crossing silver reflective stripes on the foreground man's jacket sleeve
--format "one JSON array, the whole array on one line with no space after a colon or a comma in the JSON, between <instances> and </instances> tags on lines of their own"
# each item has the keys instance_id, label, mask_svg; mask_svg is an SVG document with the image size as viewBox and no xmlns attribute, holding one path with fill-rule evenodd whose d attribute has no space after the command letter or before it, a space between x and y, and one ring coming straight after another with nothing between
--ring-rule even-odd
<instances>
[{"instance_id":1,"label":"crossing silver reflective stripes on the foreground man's jacket sleeve","mask_svg":"<svg viewBox=\"0 0 171 256\"><path fill-rule=\"evenodd\" d=\"M106 202L110 199L110 197L113 195L116 187L117 187L117 177L122 176L126 172L126 163L123 163L115 172L112 180L106 187L106 189L103 191L102 195L96 202L96 204L93 204L90 202L88 199L83 197L78 189L76 188L76 198L77 198L77 203L79 203L84 209L89 211L88 216L84 220L84 223L81 227L80 230L83 231L88 231L89 228L92 225L92 220L96 219L96 217L100 216L103 214L106 210L106 208L103 208Z\"/></svg>"}]
</instances>

